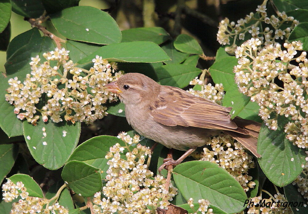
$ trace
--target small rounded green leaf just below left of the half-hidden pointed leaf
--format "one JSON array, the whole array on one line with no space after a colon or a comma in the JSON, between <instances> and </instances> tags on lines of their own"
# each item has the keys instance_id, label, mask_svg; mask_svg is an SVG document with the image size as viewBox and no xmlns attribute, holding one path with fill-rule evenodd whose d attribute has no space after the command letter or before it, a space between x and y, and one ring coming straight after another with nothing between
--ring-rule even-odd
<instances>
[{"instance_id":1,"label":"small rounded green leaf just below left of the half-hidden pointed leaf","mask_svg":"<svg viewBox=\"0 0 308 214\"><path fill-rule=\"evenodd\" d=\"M91 197L102 189L100 169L81 161L68 162L64 166L61 176L74 192L83 197Z\"/></svg>"}]
</instances>

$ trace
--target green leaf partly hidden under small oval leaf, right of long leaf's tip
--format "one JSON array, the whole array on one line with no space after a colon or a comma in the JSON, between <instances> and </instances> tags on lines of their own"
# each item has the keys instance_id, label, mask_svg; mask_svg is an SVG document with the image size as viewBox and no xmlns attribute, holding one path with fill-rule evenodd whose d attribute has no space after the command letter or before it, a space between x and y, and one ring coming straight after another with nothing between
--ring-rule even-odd
<instances>
[{"instance_id":1,"label":"green leaf partly hidden under small oval leaf, right of long leaf's tip","mask_svg":"<svg viewBox=\"0 0 308 214\"><path fill-rule=\"evenodd\" d=\"M165 44L161 48L170 57L170 59L166 59L164 61L164 63L166 63L166 64L179 64L179 63L183 62L185 59L187 59L187 57L189 56L189 54L185 54L185 53L182 53L182 52L176 50L175 47L173 46L172 41L168 42L167 44Z\"/></svg>"}]
</instances>

